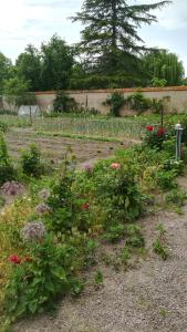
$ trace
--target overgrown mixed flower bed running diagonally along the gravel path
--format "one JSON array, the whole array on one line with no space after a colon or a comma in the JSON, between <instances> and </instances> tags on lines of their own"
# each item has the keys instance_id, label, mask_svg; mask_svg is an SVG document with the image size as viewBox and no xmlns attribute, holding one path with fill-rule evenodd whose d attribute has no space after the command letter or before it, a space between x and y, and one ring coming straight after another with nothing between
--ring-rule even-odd
<instances>
[{"instance_id":1,"label":"overgrown mixed flower bed running diagonally along the gravel path","mask_svg":"<svg viewBox=\"0 0 187 332\"><path fill-rule=\"evenodd\" d=\"M6 207L0 217L4 324L51 310L66 293L77 295L85 283L83 271L96 262L96 250L103 243L123 239L118 261L125 264L134 250L145 247L135 221L146 211L149 194L177 188L176 177L185 166L184 162L174 163L168 144L174 139L167 131L162 145L150 145L146 135L152 131L145 128L142 144L121 147L113 157L94 166L87 164L82 170L76 169L76 158L69 148L65 158L51 170L52 177L43 172L38 179L33 172L27 173L27 195ZM4 143L2 146L3 151ZM31 157L29 166L38 168L40 152L34 152L24 155L20 165L25 162L27 166ZM19 179L25 181L20 174ZM167 196L169 201L173 196ZM160 250L155 241L154 251L162 255ZM95 282L103 282L101 273Z\"/></svg>"}]
</instances>

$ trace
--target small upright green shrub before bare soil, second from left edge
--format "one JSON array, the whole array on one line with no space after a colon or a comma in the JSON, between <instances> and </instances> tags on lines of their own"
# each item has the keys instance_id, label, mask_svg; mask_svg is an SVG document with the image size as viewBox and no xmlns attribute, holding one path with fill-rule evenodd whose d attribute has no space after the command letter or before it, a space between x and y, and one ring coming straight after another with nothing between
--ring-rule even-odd
<instances>
[{"instance_id":1,"label":"small upright green shrub before bare soil, second from left edge","mask_svg":"<svg viewBox=\"0 0 187 332\"><path fill-rule=\"evenodd\" d=\"M21 156L22 172L28 176L39 178L44 174L44 165L41 162L41 153L35 144L32 144L29 149L23 152Z\"/></svg>"}]
</instances>

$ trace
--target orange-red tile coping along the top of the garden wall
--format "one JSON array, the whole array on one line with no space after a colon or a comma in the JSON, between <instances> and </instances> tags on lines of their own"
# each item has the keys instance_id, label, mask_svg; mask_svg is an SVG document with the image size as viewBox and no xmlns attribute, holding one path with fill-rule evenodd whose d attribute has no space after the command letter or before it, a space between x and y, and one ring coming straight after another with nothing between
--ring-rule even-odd
<instances>
[{"instance_id":1,"label":"orange-red tile coping along the top of the garden wall","mask_svg":"<svg viewBox=\"0 0 187 332\"><path fill-rule=\"evenodd\" d=\"M164 86L164 87L125 87L125 89L91 89L91 90L65 90L67 93L79 94L79 93L112 93L112 92L168 92L168 91L187 91L187 86ZM37 91L35 95L41 94L55 94L55 91Z\"/></svg>"}]
</instances>

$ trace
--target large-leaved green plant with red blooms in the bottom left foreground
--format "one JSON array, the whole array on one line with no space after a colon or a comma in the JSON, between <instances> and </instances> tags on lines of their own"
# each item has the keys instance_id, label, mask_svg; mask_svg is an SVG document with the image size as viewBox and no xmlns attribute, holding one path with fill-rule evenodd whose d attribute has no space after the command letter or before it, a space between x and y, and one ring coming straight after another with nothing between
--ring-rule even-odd
<instances>
[{"instance_id":1,"label":"large-leaved green plant with red blooms in the bottom left foreground","mask_svg":"<svg viewBox=\"0 0 187 332\"><path fill-rule=\"evenodd\" d=\"M56 245L51 237L46 237L42 242L30 246L29 256L18 259L11 257L14 267L7 288L8 314L11 319L51 308L59 295L70 291L70 250L74 249Z\"/></svg>"}]
</instances>

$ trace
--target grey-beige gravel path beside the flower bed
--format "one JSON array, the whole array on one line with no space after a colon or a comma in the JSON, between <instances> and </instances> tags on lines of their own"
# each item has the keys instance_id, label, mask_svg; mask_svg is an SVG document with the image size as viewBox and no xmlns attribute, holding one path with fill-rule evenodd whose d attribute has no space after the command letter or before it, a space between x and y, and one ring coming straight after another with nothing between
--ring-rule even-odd
<instances>
[{"instance_id":1,"label":"grey-beige gravel path beside the flower bed","mask_svg":"<svg viewBox=\"0 0 187 332\"><path fill-rule=\"evenodd\" d=\"M156 226L166 230L169 258L152 252ZM158 212L139 220L149 255L127 272L103 267L104 287L66 298L55 318L20 322L18 332L185 332L187 331L187 206L181 216Z\"/></svg>"}]
</instances>

